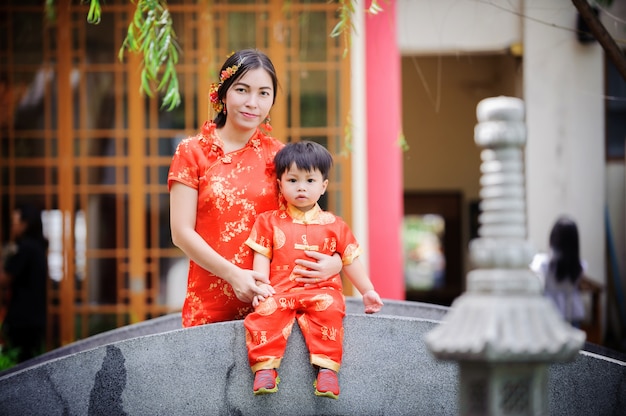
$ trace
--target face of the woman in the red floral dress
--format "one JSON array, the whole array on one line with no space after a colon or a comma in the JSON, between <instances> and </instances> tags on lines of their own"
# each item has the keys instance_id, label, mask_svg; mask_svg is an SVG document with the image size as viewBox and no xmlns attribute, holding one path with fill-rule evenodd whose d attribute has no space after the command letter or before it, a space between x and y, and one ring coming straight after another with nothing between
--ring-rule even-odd
<instances>
[{"instance_id":1,"label":"face of the woman in the red floral dress","mask_svg":"<svg viewBox=\"0 0 626 416\"><path fill-rule=\"evenodd\" d=\"M256 129L274 103L272 77L263 68L251 69L235 81L224 98L227 124L249 130Z\"/></svg>"}]
</instances>

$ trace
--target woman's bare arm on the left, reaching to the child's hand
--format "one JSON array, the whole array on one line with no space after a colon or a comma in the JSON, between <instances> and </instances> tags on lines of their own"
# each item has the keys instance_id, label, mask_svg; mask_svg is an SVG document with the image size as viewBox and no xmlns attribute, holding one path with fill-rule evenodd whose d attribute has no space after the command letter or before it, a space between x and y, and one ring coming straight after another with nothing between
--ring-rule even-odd
<instances>
[{"instance_id":1,"label":"woman's bare arm on the left, reaching to the child's hand","mask_svg":"<svg viewBox=\"0 0 626 416\"><path fill-rule=\"evenodd\" d=\"M253 270L241 269L217 253L196 232L196 208L198 191L175 182L170 190L170 226L172 242L200 267L226 280L233 287L237 298L252 302L254 296L270 296L267 288L257 286L259 280L269 284L267 276Z\"/></svg>"}]
</instances>

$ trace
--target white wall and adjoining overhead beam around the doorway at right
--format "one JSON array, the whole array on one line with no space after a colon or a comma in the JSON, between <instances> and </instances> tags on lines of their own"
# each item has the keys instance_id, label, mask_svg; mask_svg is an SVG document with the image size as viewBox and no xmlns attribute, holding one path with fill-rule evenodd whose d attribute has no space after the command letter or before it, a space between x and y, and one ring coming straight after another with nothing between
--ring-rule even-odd
<instances>
[{"instance_id":1,"label":"white wall and adjoining overhead beam around the doorway at right","mask_svg":"<svg viewBox=\"0 0 626 416\"><path fill-rule=\"evenodd\" d=\"M573 216L589 274L605 282L603 52L577 42L573 4L398 0L397 21L403 55L523 45L528 238L545 250L557 216Z\"/></svg>"}]
</instances>

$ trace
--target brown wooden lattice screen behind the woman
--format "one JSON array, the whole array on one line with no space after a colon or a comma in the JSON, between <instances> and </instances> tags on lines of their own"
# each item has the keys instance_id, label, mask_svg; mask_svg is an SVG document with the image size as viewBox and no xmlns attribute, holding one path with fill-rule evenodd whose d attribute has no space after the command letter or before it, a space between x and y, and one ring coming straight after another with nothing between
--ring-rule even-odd
<instances>
[{"instance_id":1,"label":"brown wooden lattice screen behind the woman","mask_svg":"<svg viewBox=\"0 0 626 416\"><path fill-rule=\"evenodd\" d=\"M117 58L134 4L103 2L100 24L79 1L0 5L0 229L12 208L45 210L50 238L48 347L180 307L186 262L172 246L166 186L178 141L209 115L209 84L232 51L270 55L280 89L273 133L313 139L335 154L327 208L350 221L349 59L329 34L326 0L168 1L182 53L182 104L140 92L140 57Z\"/></svg>"}]
</instances>

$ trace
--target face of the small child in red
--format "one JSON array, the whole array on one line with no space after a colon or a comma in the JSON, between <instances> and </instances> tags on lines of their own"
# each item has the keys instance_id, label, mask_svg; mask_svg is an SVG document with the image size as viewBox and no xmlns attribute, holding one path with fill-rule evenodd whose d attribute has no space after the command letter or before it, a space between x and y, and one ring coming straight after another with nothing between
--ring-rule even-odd
<instances>
[{"instance_id":1,"label":"face of the small child in red","mask_svg":"<svg viewBox=\"0 0 626 416\"><path fill-rule=\"evenodd\" d=\"M278 179L285 200L305 212L315 206L327 186L328 179L324 179L319 169L308 172L298 169L295 163Z\"/></svg>"}]
</instances>

